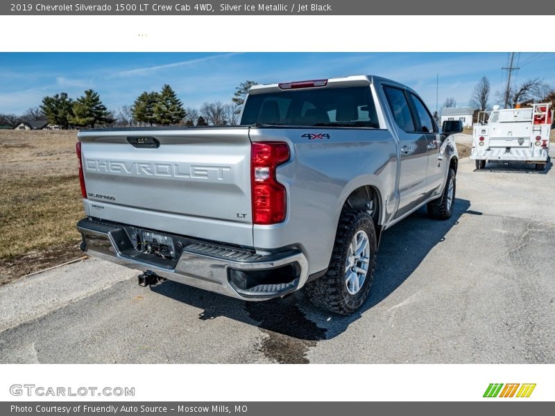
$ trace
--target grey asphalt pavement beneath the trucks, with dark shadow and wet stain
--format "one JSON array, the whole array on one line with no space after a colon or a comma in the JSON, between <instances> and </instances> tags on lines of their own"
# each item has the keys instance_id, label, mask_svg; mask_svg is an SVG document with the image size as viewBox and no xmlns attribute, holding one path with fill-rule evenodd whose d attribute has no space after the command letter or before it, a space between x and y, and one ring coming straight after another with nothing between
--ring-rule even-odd
<instances>
[{"instance_id":1,"label":"grey asphalt pavement beneath the trucks, with dark shadow and wet stain","mask_svg":"<svg viewBox=\"0 0 555 416\"><path fill-rule=\"evenodd\" d=\"M555 363L555 171L463 159L450 220L384 232L348 318L248 303L97 259L0 287L0 363Z\"/></svg>"}]
</instances>

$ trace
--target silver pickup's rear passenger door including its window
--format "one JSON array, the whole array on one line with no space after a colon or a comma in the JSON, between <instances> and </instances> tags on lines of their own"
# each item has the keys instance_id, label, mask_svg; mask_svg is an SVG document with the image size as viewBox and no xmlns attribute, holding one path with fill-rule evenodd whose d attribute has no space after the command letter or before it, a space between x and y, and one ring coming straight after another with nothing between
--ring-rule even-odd
<instances>
[{"instance_id":1,"label":"silver pickup's rear passenger door including its window","mask_svg":"<svg viewBox=\"0 0 555 416\"><path fill-rule=\"evenodd\" d=\"M393 116L393 125L399 138L400 178L398 218L415 208L427 191L428 166L427 137L418 131L418 123L409 105L404 89L384 85L384 93Z\"/></svg>"}]
</instances>

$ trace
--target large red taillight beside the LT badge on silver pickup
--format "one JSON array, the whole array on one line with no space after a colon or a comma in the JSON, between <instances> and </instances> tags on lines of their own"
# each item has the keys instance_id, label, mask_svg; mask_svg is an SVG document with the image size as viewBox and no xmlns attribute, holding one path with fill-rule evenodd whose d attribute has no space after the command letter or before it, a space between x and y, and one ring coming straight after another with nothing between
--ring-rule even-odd
<instances>
[{"instance_id":1,"label":"large red taillight beside the LT badge on silver pickup","mask_svg":"<svg viewBox=\"0 0 555 416\"><path fill-rule=\"evenodd\" d=\"M285 187L275 171L289 160L289 146L282 142L253 143L250 149L250 182L253 200L253 223L281 223L287 215Z\"/></svg>"}]
</instances>

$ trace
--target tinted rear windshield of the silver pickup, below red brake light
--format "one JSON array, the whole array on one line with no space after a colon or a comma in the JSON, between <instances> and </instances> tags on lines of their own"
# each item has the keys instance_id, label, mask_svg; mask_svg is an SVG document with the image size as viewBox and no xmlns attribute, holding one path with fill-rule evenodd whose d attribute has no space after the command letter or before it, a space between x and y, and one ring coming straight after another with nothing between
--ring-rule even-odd
<instances>
[{"instance_id":1,"label":"tinted rear windshield of the silver pickup, below red brake light","mask_svg":"<svg viewBox=\"0 0 555 416\"><path fill-rule=\"evenodd\" d=\"M248 96L241 125L379 128L370 87L293 89Z\"/></svg>"}]
</instances>

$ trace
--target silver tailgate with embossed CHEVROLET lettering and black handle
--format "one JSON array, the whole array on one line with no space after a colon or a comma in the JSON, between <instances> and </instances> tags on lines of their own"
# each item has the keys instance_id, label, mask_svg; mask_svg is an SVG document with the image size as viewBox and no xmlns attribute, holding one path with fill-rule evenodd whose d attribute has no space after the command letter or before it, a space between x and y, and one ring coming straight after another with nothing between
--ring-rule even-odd
<instances>
[{"instance_id":1,"label":"silver tailgate with embossed CHEVROLET lettering and black handle","mask_svg":"<svg viewBox=\"0 0 555 416\"><path fill-rule=\"evenodd\" d=\"M89 130L78 139L89 216L252 245L248 128Z\"/></svg>"}]
</instances>

